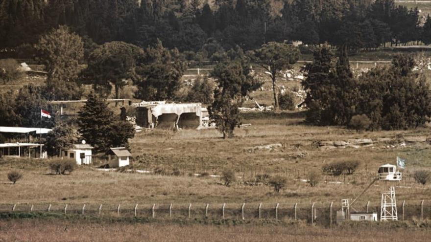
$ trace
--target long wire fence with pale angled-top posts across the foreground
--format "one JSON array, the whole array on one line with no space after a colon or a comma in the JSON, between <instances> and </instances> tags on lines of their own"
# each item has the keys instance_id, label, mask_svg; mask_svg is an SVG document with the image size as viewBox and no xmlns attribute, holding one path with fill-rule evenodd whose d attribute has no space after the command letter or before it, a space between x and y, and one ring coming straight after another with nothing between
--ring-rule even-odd
<instances>
[{"instance_id":1,"label":"long wire fence with pale angled-top posts across the foreground","mask_svg":"<svg viewBox=\"0 0 431 242\"><path fill-rule=\"evenodd\" d=\"M380 220L380 202L367 202L360 212L375 212ZM398 220L430 220L431 201L402 201L397 204ZM311 203L153 203L153 204L0 204L0 213L55 213L65 215L169 219L214 220L303 220L310 224L332 227L335 202Z\"/></svg>"}]
</instances>

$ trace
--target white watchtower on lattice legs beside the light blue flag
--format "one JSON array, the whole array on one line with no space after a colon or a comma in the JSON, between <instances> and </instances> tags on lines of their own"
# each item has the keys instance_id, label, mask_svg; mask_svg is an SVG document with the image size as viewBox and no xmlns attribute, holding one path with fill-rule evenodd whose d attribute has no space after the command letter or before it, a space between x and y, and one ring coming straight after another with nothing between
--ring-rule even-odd
<instances>
[{"instance_id":1,"label":"white watchtower on lattice legs beside the light blue flag","mask_svg":"<svg viewBox=\"0 0 431 242\"><path fill-rule=\"evenodd\" d=\"M386 164L380 166L379 177L381 181L401 181L402 175L397 166ZM395 186L391 185L389 191L382 193L382 203L380 210L380 220L398 220L397 203L395 198Z\"/></svg>"}]
</instances>

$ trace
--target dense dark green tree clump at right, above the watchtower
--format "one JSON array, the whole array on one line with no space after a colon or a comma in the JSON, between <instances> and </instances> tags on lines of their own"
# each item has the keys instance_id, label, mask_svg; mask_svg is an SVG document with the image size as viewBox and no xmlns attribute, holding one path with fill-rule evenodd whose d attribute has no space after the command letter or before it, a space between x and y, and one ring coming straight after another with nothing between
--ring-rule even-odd
<instances>
[{"instance_id":1,"label":"dense dark green tree clump at right, above the watchtower","mask_svg":"<svg viewBox=\"0 0 431 242\"><path fill-rule=\"evenodd\" d=\"M307 120L352 127L362 123L371 130L424 125L431 117L431 88L424 76L412 72L413 66L411 57L397 55L391 66L375 67L355 78L346 50L340 50L335 63L333 53L323 46L305 67Z\"/></svg>"}]
</instances>

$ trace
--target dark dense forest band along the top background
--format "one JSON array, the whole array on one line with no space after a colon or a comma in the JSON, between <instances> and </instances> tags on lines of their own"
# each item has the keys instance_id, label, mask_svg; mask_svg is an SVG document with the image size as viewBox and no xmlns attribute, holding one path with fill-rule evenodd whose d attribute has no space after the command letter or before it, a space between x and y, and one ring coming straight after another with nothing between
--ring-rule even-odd
<instances>
[{"instance_id":1,"label":"dark dense forest band along the top background","mask_svg":"<svg viewBox=\"0 0 431 242\"><path fill-rule=\"evenodd\" d=\"M267 42L345 44L376 48L384 43L431 42L431 18L394 0L0 0L0 46L35 44L58 25L68 25L91 47L123 41L140 47L157 43L196 58L211 58L239 45ZM28 47L24 45L24 47ZM216 57L215 57L216 58Z\"/></svg>"}]
</instances>

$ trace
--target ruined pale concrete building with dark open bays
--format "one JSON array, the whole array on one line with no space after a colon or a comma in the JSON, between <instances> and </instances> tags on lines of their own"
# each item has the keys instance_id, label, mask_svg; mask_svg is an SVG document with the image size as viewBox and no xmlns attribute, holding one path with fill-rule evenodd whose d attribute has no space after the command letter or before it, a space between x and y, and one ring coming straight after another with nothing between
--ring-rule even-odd
<instances>
[{"instance_id":1,"label":"ruined pale concrete building with dark open bays","mask_svg":"<svg viewBox=\"0 0 431 242\"><path fill-rule=\"evenodd\" d=\"M141 102L136 107L136 124L144 128L196 129L202 126L200 103Z\"/></svg>"}]
</instances>

